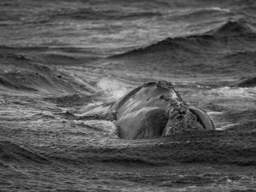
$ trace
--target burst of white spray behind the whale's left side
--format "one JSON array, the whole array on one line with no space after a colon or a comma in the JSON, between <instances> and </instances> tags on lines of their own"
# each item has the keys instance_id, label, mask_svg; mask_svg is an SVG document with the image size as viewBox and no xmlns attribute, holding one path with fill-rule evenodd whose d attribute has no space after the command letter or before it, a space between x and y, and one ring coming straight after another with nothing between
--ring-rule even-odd
<instances>
[{"instance_id":1,"label":"burst of white spray behind the whale's left side","mask_svg":"<svg viewBox=\"0 0 256 192\"><path fill-rule=\"evenodd\" d=\"M114 102L118 100L121 96L124 96L130 89L127 88L127 85L116 80L103 78L97 84L105 94L108 96L108 102Z\"/></svg>"}]
</instances>

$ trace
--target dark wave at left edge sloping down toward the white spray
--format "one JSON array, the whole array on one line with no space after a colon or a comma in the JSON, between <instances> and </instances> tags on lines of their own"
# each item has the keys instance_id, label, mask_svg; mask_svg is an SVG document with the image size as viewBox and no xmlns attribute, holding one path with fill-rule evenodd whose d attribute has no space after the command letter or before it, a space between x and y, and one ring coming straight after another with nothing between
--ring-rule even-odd
<instances>
[{"instance_id":1,"label":"dark wave at left edge sloping down toward the white spray","mask_svg":"<svg viewBox=\"0 0 256 192\"><path fill-rule=\"evenodd\" d=\"M0 87L33 93L91 94L88 84L45 61L26 55L0 54Z\"/></svg>"}]
</instances>

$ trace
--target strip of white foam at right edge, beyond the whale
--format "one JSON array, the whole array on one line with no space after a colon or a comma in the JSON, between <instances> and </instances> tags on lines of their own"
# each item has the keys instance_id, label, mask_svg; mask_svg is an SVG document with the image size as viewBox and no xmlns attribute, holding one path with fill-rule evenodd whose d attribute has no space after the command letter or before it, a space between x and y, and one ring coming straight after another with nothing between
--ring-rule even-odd
<instances>
[{"instance_id":1,"label":"strip of white foam at right edge, beyond the whale","mask_svg":"<svg viewBox=\"0 0 256 192\"><path fill-rule=\"evenodd\" d=\"M210 91L213 94L218 94L219 96L226 96L226 97L247 97L247 98L256 97L256 87L249 87L249 88L222 87L222 88L213 89Z\"/></svg>"}]
</instances>

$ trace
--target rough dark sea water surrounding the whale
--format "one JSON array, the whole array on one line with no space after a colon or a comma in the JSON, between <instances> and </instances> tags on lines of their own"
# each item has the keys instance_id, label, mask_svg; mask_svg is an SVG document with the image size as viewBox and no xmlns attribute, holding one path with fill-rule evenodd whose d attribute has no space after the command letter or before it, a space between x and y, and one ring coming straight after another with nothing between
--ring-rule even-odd
<instances>
[{"instance_id":1,"label":"rough dark sea water surrounding the whale","mask_svg":"<svg viewBox=\"0 0 256 192\"><path fill-rule=\"evenodd\" d=\"M0 2L1 191L255 191L256 2ZM217 131L86 119L167 80Z\"/></svg>"}]
</instances>

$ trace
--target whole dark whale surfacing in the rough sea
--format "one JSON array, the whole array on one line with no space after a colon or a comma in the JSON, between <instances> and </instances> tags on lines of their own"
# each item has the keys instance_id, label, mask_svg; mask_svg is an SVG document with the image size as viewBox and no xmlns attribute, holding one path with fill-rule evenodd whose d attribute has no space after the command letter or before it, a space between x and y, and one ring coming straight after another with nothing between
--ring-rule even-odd
<instances>
[{"instance_id":1,"label":"whole dark whale surfacing in the rough sea","mask_svg":"<svg viewBox=\"0 0 256 192\"><path fill-rule=\"evenodd\" d=\"M116 102L90 109L86 115L112 120L122 139L215 130L207 113L190 107L167 81L138 86Z\"/></svg>"}]
</instances>

